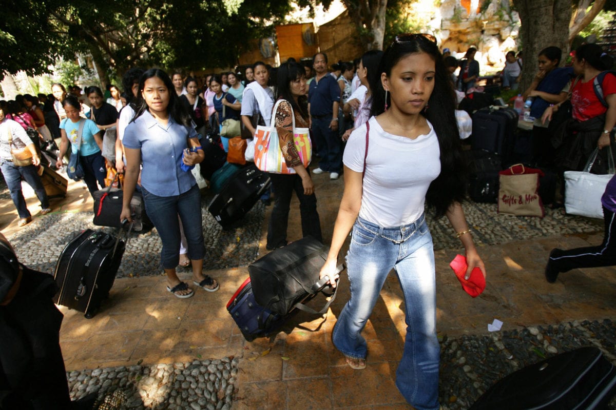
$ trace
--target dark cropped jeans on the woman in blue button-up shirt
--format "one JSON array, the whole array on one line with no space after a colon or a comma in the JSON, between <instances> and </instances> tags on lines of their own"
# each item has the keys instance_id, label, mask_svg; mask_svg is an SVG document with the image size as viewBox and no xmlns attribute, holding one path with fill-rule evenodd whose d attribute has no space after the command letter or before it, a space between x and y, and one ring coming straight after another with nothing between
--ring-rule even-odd
<instances>
[{"instance_id":1,"label":"dark cropped jeans on the woman in blue button-up shirt","mask_svg":"<svg viewBox=\"0 0 616 410\"><path fill-rule=\"evenodd\" d=\"M163 269L173 269L180 261L180 220L188 243L188 258L203 259L203 227L201 194L197 184L184 194L159 197L141 187L145 211L156 227L163 250L160 252ZM180 216L180 220L177 218Z\"/></svg>"}]
</instances>

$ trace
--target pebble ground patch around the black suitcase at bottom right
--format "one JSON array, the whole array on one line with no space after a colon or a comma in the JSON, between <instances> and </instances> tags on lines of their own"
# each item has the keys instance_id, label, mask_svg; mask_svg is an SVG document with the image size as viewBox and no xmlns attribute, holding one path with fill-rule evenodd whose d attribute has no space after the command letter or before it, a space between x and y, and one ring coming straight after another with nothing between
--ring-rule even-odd
<instances>
[{"instance_id":1,"label":"pebble ground patch around the black suitcase at bottom right","mask_svg":"<svg viewBox=\"0 0 616 410\"><path fill-rule=\"evenodd\" d=\"M616 323L578 321L461 336L441 342L439 399L448 410L468 409L494 382L557 353L596 346L616 363ZM609 409L616 409L612 400Z\"/></svg>"}]
</instances>

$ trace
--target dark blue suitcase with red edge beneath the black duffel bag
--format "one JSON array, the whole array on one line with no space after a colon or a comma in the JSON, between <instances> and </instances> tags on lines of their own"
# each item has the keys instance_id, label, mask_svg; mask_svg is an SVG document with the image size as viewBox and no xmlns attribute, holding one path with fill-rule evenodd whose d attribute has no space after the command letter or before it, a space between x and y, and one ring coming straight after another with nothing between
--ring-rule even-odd
<instances>
[{"instance_id":1,"label":"dark blue suitcase with red edge beneath the black duffel bag","mask_svg":"<svg viewBox=\"0 0 616 410\"><path fill-rule=\"evenodd\" d=\"M246 279L233 294L227 303L227 312L235 320L241 334L248 342L275 331L285 323L286 319L257 304L250 278Z\"/></svg>"}]
</instances>

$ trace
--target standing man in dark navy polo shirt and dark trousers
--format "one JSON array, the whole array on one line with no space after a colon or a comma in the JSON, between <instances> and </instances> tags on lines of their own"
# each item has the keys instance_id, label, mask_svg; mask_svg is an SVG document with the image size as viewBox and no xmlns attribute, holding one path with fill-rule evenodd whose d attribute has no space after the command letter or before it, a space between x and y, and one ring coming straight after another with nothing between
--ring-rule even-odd
<instances>
[{"instance_id":1,"label":"standing man in dark navy polo shirt and dark trousers","mask_svg":"<svg viewBox=\"0 0 616 410\"><path fill-rule=\"evenodd\" d=\"M330 173L330 179L338 179L342 167L341 140L338 136L338 104L340 87L327 72L327 55L314 56L314 79L308 92L310 129L321 160L315 174Z\"/></svg>"}]
</instances>

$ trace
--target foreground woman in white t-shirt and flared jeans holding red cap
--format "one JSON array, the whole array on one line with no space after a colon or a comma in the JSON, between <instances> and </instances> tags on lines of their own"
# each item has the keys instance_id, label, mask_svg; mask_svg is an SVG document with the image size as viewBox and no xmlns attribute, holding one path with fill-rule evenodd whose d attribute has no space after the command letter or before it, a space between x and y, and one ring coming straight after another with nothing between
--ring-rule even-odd
<instances>
[{"instance_id":1,"label":"foreground woman in white t-shirt and flared jeans holding red cap","mask_svg":"<svg viewBox=\"0 0 616 410\"><path fill-rule=\"evenodd\" d=\"M464 247L470 277L485 275L464 219L464 170L455 99L434 37L400 34L383 54L371 84L372 117L344 151L344 194L330 253L321 270L334 285L338 253L347 253L351 299L333 330L333 343L353 369L366 367L362 336L387 275L394 269L405 299L407 334L396 386L418 410L439 408L434 251L424 203L447 215ZM391 98L390 98L391 97Z\"/></svg>"}]
</instances>

